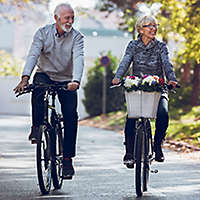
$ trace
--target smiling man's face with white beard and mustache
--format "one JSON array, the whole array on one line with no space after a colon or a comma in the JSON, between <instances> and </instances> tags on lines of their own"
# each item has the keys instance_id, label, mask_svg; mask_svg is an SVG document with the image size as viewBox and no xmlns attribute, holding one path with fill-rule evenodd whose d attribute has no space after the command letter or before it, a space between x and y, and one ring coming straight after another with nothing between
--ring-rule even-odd
<instances>
[{"instance_id":1,"label":"smiling man's face with white beard and mustache","mask_svg":"<svg viewBox=\"0 0 200 200\"><path fill-rule=\"evenodd\" d=\"M62 8L56 22L63 31L69 32L74 23L74 11L70 8Z\"/></svg>"}]
</instances>

